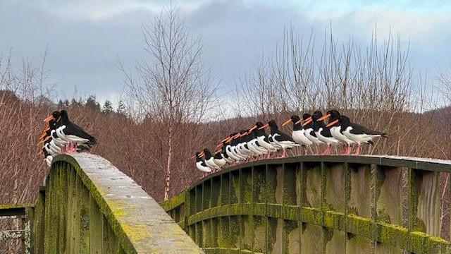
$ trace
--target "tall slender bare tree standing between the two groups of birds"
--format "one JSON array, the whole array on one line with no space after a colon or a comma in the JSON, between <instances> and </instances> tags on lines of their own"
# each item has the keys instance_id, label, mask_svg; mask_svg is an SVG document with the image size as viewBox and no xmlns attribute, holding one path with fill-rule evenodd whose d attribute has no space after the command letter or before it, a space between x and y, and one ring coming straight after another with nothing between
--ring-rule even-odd
<instances>
[{"instance_id":1,"label":"tall slender bare tree standing between the two groups of birds","mask_svg":"<svg viewBox=\"0 0 451 254\"><path fill-rule=\"evenodd\" d=\"M204 119L217 87L210 69L204 67L201 39L190 36L179 11L170 6L143 25L147 58L137 61L136 76L125 72L128 93L145 112L142 119L153 121L161 130L154 134L166 155L165 200L171 182L174 137L183 135L182 123Z\"/></svg>"}]
</instances>

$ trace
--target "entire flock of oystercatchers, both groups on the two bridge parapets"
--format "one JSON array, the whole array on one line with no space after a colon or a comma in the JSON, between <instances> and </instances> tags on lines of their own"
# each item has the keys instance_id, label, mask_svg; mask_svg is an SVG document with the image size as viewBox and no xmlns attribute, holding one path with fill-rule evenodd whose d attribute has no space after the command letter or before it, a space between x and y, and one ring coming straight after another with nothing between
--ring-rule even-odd
<instances>
[{"instance_id":1,"label":"entire flock of oystercatchers, both groups on the two bridge parapets","mask_svg":"<svg viewBox=\"0 0 451 254\"><path fill-rule=\"evenodd\" d=\"M92 145L97 144L96 138L69 120L66 110L54 111L44 121L48 126L42 131L38 145L42 145L39 154L44 155L49 166L56 155L89 151ZM221 149L214 154L204 148L196 152L192 159L196 158L197 169L209 173L226 164L269 158L276 152L281 152L280 156L285 157L286 150L299 146L307 148L316 145L316 154L319 154L318 145L326 145L321 155L330 155L333 145L342 145L340 153L350 155L355 145L354 155L359 155L362 143L373 145L373 138L388 138L385 133L352 123L349 117L340 115L335 109L325 115L321 111L303 114L302 119L293 115L281 126L289 123L292 123L291 136L280 131L274 120L266 124L258 121L247 130L228 135L216 146ZM270 128L269 134L265 131L267 128ZM305 153L307 155L307 150Z\"/></svg>"}]
</instances>

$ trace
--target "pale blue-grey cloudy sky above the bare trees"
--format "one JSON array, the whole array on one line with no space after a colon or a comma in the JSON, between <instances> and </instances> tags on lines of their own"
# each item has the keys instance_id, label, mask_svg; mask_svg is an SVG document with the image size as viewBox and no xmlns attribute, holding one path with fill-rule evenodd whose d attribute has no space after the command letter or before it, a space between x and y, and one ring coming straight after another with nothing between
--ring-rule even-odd
<instances>
[{"instance_id":1,"label":"pale blue-grey cloudy sky above the bare trees","mask_svg":"<svg viewBox=\"0 0 451 254\"><path fill-rule=\"evenodd\" d=\"M49 83L58 81L56 97L116 101L123 94L121 59L132 68L144 54L142 24L167 1L0 0L0 54L13 60L39 60L48 48ZM409 62L428 73L451 66L450 1L173 1L192 35L200 35L204 60L221 81L224 96L237 73L248 71L262 52L271 52L292 25L300 35L322 35L332 28L338 40L350 37L366 45L376 31L390 32L409 46Z\"/></svg>"}]
</instances>

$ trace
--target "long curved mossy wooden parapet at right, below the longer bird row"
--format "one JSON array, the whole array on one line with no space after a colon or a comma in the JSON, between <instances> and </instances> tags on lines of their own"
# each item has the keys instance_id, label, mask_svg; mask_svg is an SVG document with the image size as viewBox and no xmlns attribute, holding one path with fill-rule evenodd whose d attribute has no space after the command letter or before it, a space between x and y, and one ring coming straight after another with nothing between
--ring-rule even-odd
<instances>
[{"instance_id":1,"label":"long curved mossy wooden parapet at right, below the longer bird row","mask_svg":"<svg viewBox=\"0 0 451 254\"><path fill-rule=\"evenodd\" d=\"M161 206L206 253L451 253L442 172L450 161L270 159L211 174Z\"/></svg>"}]
</instances>

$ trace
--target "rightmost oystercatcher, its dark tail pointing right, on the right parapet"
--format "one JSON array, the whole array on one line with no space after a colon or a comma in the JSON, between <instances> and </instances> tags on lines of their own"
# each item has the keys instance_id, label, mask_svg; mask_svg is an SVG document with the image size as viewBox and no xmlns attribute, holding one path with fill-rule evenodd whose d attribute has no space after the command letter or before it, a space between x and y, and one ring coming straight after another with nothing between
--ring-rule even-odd
<instances>
[{"instance_id":1,"label":"rightmost oystercatcher, its dark tail pointing right, on the right parapet","mask_svg":"<svg viewBox=\"0 0 451 254\"><path fill-rule=\"evenodd\" d=\"M332 124L331 122L330 124ZM360 145L362 143L367 143L369 145L373 145L373 139L378 137L388 138L386 133L382 133L380 131L373 131L369 128L361 126L357 123L352 123L347 116L338 116L338 123L340 123L342 133L349 138L350 140L357 143L357 147L355 149L354 155L360 154Z\"/></svg>"}]
</instances>

